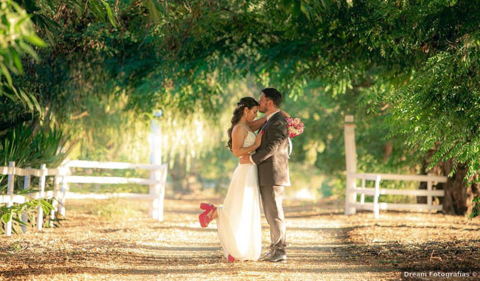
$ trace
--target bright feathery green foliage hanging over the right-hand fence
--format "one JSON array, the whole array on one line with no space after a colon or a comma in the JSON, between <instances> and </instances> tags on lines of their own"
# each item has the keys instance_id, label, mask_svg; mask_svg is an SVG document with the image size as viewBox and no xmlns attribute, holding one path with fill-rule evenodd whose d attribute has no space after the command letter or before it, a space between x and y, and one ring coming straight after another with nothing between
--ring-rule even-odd
<instances>
[{"instance_id":1,"label":"bright feathery green foliage hanging over the right-hand fence","mask_svg":"<svg viewBox=\"0 0 480 281\"><path fill-rule=\"evenodd\" d=\"M435 148L429 168L453 159L450 176L458 163L468 163L469 179L480 171L480 84L473 76L480 63L478 32L458 40L381 99L391 105L385 121L391 135L404 135L405 144L422 153Z\"/></svg>"}]
</instances>

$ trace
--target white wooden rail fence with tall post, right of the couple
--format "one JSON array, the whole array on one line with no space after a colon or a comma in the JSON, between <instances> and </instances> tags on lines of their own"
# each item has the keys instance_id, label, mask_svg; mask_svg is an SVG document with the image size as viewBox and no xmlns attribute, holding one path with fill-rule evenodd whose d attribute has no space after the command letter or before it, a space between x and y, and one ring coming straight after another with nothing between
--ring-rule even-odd
<instances>
[{"instance_id":1,"label":"white wooden rail fence with tall post, right of the couple","mask_svg":"<svg viewBox=\"0 0 480 281\"><path fill-rule=\"evenodd\" d=\"M347 186L345 196L345 215L355 214L357 209L373 210L375 218L379 217L380 209L396 210L442 210L443 205L433 205L433 197L445 196L444 190L432 190L435 182L447 182L445 176L430 175L396 175L382 173L357 173L356 172L356 147L355 147L355 124L353 116L345 116L345 160L347 169ZM361 180L361 185L357 187L357 180ZM426 190L400 190L380 188L382 180L403 180L426 182ZM367 181L374 181L374 186L367 187ZM357 201L357 195L360 195L360 201ZM365 196L373 196L373 202L365 202ZM379 202L380 195L410 195L426 196L426 204L401 204Z\"/></svg>"}]
</instances>

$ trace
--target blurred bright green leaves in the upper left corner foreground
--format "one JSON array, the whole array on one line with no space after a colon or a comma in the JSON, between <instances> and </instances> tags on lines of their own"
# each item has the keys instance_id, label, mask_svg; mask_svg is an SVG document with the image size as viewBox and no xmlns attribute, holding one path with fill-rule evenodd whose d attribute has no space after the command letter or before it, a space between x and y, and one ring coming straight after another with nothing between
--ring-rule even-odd
<instances>
[{"instance_id":1,"label":"blurred bright green leaves in the upper left corner foreground","mask_svg":"<svg viewBox=\"0 0 480 281\"><path fill-rule=\"evenodd\" d=\"M105 22L108 19L113 26L116 26L116 15L106 1L94 0L86 4L88 5L83 5L76 0L62 3L5 0L0 3L0 20L2 21L0 25L0 97L5 96L13 103L19 101L31 112L37 111L42 115L44 106L49 105L38 102L41 93L38 87L34 86L36 83L32 84L21 78L25 73L31 75L35 62L44 59L30 44L41 48L47 46L37 36L33 25L40 28L40 35L45 35L51 45L56 48L59 43L57 36L62 31L62 26L55 18L57 13L62 13L64 9L74 9L76 15L85 20L94 18ZM30 61L24 54L30 55L34 61ZM26 62L27 67L25 67ZM16 112L15 114L25 113ZM12 116L10 119L15 120Z\"/></svg>"}]
</instances>

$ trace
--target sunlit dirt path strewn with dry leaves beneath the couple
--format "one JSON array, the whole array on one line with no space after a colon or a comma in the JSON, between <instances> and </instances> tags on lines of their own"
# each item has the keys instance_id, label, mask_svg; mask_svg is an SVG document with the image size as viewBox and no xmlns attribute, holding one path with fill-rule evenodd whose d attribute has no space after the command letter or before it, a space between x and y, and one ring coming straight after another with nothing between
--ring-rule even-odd
<instances>
[{"instance_id":1,"label":"sunlit dirt path strewn with dry leaves beneath the couple","mask_svg":"<svg viewBox=\"0 0 480 281\"><path fill-rule=\"evenodd\" d=\"M480 223L460 217L387 213L374 220L371 213L344 216L339 201L286 202L289 261L227 263L215 223L199 227L199 200L165 200L164 222L146 216L145 202L102 202L69 201L63 227L0 238L0 278L379 280L445 264L480 269ZM437 238L450 251L438 256L445 245L431 244ZM265 218L262 241L265 252ZM438 254L422 256L417 248L428 245Z\"/></svg>"}]
</instances>

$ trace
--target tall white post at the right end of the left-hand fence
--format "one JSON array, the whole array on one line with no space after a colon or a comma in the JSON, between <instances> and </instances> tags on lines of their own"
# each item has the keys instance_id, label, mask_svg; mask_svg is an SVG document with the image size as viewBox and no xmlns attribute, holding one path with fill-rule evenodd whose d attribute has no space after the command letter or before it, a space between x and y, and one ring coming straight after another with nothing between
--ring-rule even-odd
<instances>
[{"instance_id":1,"label":"tall white post at the right end of the left-hand fence","mask_svg":"<svg viewBox=\"0 0 480 281\"><path fill-rule=\"evenodd\" d=\"M162 161L161 150L161 128L160 117L162 116L162 110L155 111L154 118L151 122L152 132L150 134L150 163L153 165L160 165ZM160 184L162 178L162 170L151 170L150 179L156 180L157 183L151 184L149 188L149 194L152 196L149 206L149 216L159 221L163 221L163 196L161 195L162 186Z\"/></svg>"}]
</instances>

